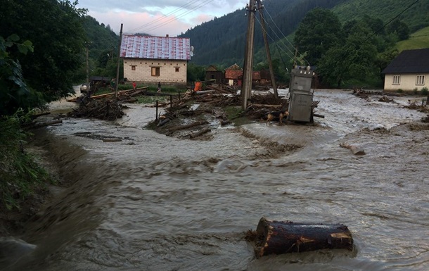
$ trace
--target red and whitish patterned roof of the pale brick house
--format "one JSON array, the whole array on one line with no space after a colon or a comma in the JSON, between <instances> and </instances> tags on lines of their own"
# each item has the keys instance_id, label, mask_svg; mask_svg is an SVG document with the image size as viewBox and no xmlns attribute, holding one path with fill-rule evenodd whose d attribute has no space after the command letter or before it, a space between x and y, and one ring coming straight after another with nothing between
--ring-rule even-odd
<instances>
[{"instance_id":1,"label":"red and whitish patterned roof of the pale brick house","mask_svg":"<svg viewBox=\"0 0 429 271\"><path fill-rule=\"evenodd\" d=\"M188 38L148 37L124 34L122 58L151 58L190 60L191 42Z\"/></svg>"}]
</instances>

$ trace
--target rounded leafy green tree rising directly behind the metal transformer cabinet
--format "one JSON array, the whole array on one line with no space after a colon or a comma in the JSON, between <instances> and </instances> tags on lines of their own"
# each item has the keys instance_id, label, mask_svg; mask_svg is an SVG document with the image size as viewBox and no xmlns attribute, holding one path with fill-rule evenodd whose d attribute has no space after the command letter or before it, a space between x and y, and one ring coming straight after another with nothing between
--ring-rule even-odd
<instances>
[{"instance_id":1,"label":"rounded leafy green tree rising directly behind the metal transformer cabinet","mask_svg":"<svg viewBox=\"0 0 429 271\"><path fill-rule=\"evenodd\" d=\"M324 8L315 8L305 15L295 33L298 51L307 52L307 62L317 63L324 52L338 45L342 35L338 17Z\"/></svg>"}]
</instances>

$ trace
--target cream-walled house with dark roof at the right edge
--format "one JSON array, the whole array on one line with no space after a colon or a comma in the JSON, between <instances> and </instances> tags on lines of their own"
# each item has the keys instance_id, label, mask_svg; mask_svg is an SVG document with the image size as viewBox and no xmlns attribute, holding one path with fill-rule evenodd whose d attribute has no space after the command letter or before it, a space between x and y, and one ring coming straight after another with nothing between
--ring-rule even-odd
<instances>
[{"instance_id":1,"label":"cream-walled house with dark roof at the right edge","mask_svg":"<svg viewBox=\"0 0 429 271\"><path fill-rule=\"evenodd\" d=\"M382 73L386 92L429 89L429 48L402 51Z\"/></svg>"}]
</instances>

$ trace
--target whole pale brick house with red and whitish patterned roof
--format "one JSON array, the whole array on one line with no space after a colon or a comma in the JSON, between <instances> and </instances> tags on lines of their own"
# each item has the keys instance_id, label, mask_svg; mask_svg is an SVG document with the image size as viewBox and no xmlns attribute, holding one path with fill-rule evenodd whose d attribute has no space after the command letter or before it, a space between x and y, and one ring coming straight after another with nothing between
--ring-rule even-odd
<instances>
[{"instance_id":1,"label":"whole pale brick house with red and whitish patterned roof","mask_svg":"<svg viewBox=\"0 0 429 271\"><path fill-rule=\"evenodd\" d=\"M120 50L124 78L146 83L186 84L190 52L188 38L124 34Z\"/></svg>"}]
</instances>

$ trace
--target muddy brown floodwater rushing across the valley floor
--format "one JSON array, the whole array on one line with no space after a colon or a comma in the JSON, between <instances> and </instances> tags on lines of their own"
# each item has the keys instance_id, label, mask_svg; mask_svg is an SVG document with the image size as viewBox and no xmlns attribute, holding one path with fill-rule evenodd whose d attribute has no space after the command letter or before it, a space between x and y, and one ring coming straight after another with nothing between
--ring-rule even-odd
<instances>
[{"instance_id":1,"label":"muddy brown floodwater rushing across the valley floor","mask_svg":"<svg viewBox=\"0 0 429 271\"><path fill-rule=\"evenodd\" d=\"M204 139L145 129L155 109L139 104L116 122L47 127L42 146L70 185L27 225L20 239L36 248L9 269L429 270L429 126L404 108L422 98L379 98L316 90L325 118L313 126L214 123ZM354 250L255 258L244 236L262 217L342 223Z\"/></svg>"}]
</instances>

